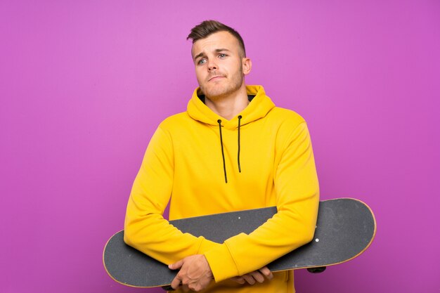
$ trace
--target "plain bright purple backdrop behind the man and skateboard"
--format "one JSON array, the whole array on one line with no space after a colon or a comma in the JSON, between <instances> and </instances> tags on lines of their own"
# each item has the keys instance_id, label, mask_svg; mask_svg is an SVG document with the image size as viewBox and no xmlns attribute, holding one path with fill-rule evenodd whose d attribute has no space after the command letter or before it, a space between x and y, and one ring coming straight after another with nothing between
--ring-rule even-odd
<instances>
[{"instance_id":1,"label":"plain bright purple backdrop behind the man and skateboard","mask_svg":"<svg viewBox=\"0 0 440 293\"><path fill-rule=\"evenodd\" d=\"M370 249L297 291L439 292L439 1L62 2L0 2L0 292L162 292L101 254L210 18L244 37L247 83L309 122L322 199L375 211Z\"/></svg>"}]
</instances>

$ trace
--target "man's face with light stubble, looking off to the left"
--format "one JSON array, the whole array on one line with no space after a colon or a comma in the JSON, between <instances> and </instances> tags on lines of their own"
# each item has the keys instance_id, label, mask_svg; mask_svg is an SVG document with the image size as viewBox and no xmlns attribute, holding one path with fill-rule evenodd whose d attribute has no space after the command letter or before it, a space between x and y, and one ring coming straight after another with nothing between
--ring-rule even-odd
<instances>
[{"instance_id":1,"label":"man's face with light stubble, looking off to the left","mask_svg":"<svg viewBox=\"0 0 440 293\"><path fill-rule=\"evenodd\" d=\"M243 57L238 40L229 32L195 41L191 53L200 89L210 100L231 96L245 86L250 59Z\"/></svg>"}]
</instances>

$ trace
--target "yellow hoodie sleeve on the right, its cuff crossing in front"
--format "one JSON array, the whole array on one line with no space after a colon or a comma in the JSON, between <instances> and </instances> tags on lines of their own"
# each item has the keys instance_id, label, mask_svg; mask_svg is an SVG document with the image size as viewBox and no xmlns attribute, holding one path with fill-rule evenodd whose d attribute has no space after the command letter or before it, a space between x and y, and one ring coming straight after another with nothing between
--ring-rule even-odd
<instances>
[{"instance_id":1,"label":"yellow hoodie sleeve on the right, its cuff crossing in front","mask_svg":"<svg viewBox=\"0 0 440 293\"><path fill-rule=\"evenodd\" d=\"M216 282L255 271L310 242L318 215L319 188L306 123L280 131L273 181L278 213L249 235L240 233L205 252Z\"/></svg>"}]
</instances>

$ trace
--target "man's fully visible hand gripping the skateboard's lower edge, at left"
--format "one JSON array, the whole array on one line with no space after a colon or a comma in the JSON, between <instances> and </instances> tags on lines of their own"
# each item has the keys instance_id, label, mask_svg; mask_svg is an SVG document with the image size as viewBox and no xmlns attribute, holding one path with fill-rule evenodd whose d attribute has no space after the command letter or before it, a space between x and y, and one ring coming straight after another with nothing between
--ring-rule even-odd
<instances>
[{"instance_id":1,"label":"man's fully visible hand gripping the skateboard's lower edge, at left","mask_svg":"<svg viewBox=\"0 0 440 293\"><path fill-rule=\"evenodd\" d=\"M214 278L209 263L203 254L194 254L168 266L172 270L180 268L171 283L173 289L181 287L184 292L198 292L205 289Z\"/></svg>"}]
</instances>

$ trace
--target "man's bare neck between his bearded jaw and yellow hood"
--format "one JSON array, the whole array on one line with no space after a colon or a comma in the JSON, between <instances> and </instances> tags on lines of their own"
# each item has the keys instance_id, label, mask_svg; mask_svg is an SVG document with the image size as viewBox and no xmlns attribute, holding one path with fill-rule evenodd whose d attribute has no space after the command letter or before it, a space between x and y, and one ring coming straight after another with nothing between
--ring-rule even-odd
<instances>
[{"instance_id":1,"label":"man's bare neck between his bearded jaw and yellow hood","mask_svg":"<svg viewBox=\"0 0 440 293\"><path fill-rule=\"evenodd\" d=\"M235 115L245 110L249 104L246 86L243 84L238 91L228 96L216 98L205 96L205 104L212 112L227 120L231 120Z\"/></svg>"}]
</instances>

